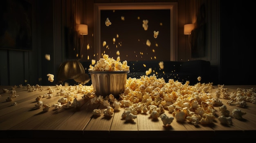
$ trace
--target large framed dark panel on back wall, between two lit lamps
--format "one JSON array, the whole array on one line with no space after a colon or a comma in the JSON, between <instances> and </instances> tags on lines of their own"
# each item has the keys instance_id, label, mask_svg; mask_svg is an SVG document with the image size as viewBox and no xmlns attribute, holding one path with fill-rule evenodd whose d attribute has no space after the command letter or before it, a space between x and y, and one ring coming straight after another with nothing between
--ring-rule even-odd
<instances>
[{"instance_id":1,"label":"large framed dark panel on back wall, between two lit lamps","mask_svg":"<svg viewBox=\"0 0 256 143\"><path fill-rule=\"evenodd\" d=\"M175 61L177 3L95 3L94 45L97 60L106 53L128 61Z\"/></svg>"}]
</instances>

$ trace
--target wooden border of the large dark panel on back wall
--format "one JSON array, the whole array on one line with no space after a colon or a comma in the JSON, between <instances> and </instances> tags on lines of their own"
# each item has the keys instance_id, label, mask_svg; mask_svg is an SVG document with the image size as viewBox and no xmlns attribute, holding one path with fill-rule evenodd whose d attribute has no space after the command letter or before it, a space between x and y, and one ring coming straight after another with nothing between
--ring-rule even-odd
<instances>
[{"instance_id":1,"label":"wooden border of the large dark panel on back wall","mask_svg":"<svg viewBox=\"0 0 256 143\"><path fill-rule=\"evenodd\" d=\"M94 4L94 53L96 59L101 58L101 11L103 10L170 10L170 60L177 58L177 3L176 2L139 2L139 3L95 3ZM159 16L159 15L158 15ZM141 23L142 25L142 23ZM132 34L130 34L132 35ZM162 51L164 52L164 51Z\"/></svg>"}]
</instances>

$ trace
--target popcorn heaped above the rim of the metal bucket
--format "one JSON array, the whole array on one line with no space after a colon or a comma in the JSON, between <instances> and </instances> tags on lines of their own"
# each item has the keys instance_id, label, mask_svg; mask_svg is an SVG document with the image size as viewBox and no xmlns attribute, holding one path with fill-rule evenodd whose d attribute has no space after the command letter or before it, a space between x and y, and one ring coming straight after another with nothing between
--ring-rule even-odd
<instances>
[{"instance_id":1,"label":"popcorn heaped above the rim of the metal bucket","mask_svg":"<svg viewBox=\"0 0 256 143\"><path fill-rule=\"evenodd\" d=\"M120 59L113 59L104 54L103 58L99 59L97 63L90 65L89 71L129 71L130 66L127 65L127 61L120 62Z\"/></svg>"}]
</instances>

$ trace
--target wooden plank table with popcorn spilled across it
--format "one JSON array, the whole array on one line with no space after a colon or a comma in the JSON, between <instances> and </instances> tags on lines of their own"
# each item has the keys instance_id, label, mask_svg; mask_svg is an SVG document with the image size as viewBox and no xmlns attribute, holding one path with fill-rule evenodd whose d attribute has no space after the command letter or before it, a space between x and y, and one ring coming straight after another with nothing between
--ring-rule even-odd
<instances>
[{"instance_id":1,"label":"wooden plank table with popcorn spilled across it","mask_svg":"<svg viewBox=\"0 0 256 143\"><path fill-rule=\"evenodd\" d=\"M191 141L187 139L200 139L200 141L218 141L219 139L235 140L242 138L255 139L256 133L256 104L247 102L246 108L227 105L227 99L220 99L231 112L238 108L246 112L243 120L232 118L232 125L223 125L216 118L213 123L195 126L189 121L179 123L175 119L171 125L164 126L161 119L152 119L149 114L137 114L133 121L125 121L121 118L124 108L116 111L112 117L101 115L95 117L92 111L96 108L103 112L106 107L102 104L92 104L90 99L83 99L83 94L77 98L80 102L79 108L54 108L44 112L42 108L36 109L36 97L49 92L48 86L45 90L29 92L26 86L17 87L13 101L6 101L11 95L12 86L0 86L0 139L56 139L67 141L67 139L94 139L95 141L110 141L111 139L171 139L170 141ZM51 86L56 89L56 86ZM215 93L217 86L212 90ZM68 88L63 86L62 88ZM236 91L237 88L256 88L252 86L225 86L228 92ZM8 89L4 93L2 89ZM52 98L42 99L45 104L54 105L61 97L53 93ZM13 106L12 104L18 104ZM220 114L219 107L215 108L216 114ZM166 110L168 116L172 114ZM205 140L203 140L205 139ZM161 141L161 140L159 140Z\"/></svg>"}]
</instances>

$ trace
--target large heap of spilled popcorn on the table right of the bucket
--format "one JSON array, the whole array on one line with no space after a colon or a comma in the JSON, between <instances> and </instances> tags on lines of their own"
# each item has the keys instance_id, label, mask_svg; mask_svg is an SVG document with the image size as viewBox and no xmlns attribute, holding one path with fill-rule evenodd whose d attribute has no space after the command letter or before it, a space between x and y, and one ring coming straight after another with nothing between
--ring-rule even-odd
<instances>
[{"instance_id":1,"label":"large heap of spilled popcorn on the table right of the bucket","mask_svg":"<svg viewBox=\"0 0 256 143\"><path fill-rule=\"evenodd\" d=\"M201 78L200 78L201 79ZM220 98L227 98L236 101L234 105L240 106L241 95L243 99L255 103L256 93L254 88L250 90L243 90L244 93L240 93L241 89L238 88L236 94L239 97L234 99L231 96L227 97L227 88L224 85L218 85L215 95L211 93L213 89L213 83L208 84L195 84L194 86L189 85L189 81L182 84L179 81L169 79L168 83L163 78L158 78L155 75L150 77L144 75L140 79L129 77L126 82L126 89L123 93L119 94L119 99L114 99L113 95L106 96L93 96L91 103L102 103L107 107L104 111L105 116L112 115L116 110L115 105L121 103L118 107L124 108L122 118L125 120L132 120L137 118L137 114L146 113L152 118L161 118L164 125L172 123L174 118L176 121L184 122L190 121L193 125L210 124L217 119L223 124L232 124L231 115L241 120L246 112L240 109L234 109L229 114L227 107L223 105ZM85 97L86 98L86 97ZM231 105L231 104L229 104ZM216 107L219 107L220 114L216 114ZM245 107L245 106L243 106ZM165 112L168 110L172 113L173 117L168 117ZM111 113L107 111L111 111ZM99 110L94 110L94 115L101 115Z\"/></svg>"}]
</instances>

